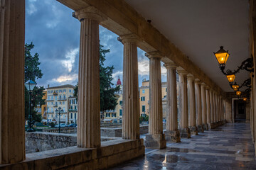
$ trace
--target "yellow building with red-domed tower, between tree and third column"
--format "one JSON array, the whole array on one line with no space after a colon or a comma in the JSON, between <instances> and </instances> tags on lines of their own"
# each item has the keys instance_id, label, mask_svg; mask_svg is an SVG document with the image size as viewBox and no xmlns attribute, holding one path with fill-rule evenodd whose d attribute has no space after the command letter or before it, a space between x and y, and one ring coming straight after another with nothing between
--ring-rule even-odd
<instances>
[{"instance_id":1,"label":"yellow building with red-domed tower, between tree and third column","mask_svg":"<svg viewBox=\"0 0 256 170\"><path fill-rule=\"evenodd\" d=\"M117 97L117 106L114 110L107 110L104 113L104 122L110 123L122 123L122 82L118 78L117 86L120 86L120 90L117 91L115 96Z\"/></svg>"}]
</instances>

